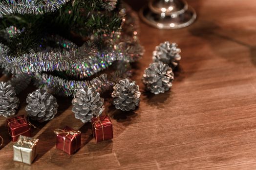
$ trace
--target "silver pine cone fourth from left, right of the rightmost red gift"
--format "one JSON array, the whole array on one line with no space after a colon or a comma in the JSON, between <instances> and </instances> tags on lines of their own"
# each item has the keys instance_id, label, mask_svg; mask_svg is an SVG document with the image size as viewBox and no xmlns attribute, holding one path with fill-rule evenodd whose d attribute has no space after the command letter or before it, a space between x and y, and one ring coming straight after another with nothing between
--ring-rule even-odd
<instances>
[{"instance_id":1,"label":"silver pine cone fourth from left, right of the rightmost red gift","mask_svg":"<svg viewBox=\"0 0 256 170\"><path fill-rule=\"evenodd\" d=\"M115 108L122 111L134 110L140 102L139 85L135 81L122 79L113 87L111 96Z\"/></svg>"}]
</instances>

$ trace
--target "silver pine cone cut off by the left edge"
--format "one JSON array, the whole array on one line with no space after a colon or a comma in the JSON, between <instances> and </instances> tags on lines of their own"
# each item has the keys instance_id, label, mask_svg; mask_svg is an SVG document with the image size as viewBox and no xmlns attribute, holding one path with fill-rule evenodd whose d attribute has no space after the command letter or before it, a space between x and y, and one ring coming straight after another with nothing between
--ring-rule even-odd
<instances>
[{"instance_id":1,"label":"silver pine cone cut off by the left edge","mask_svg":"<svg viewBox=\"0 0 256 170\"><path fill-rule=\"evenodd\" d=\"M13 86L8 82L0 82L0 116L7 118L15 115L19 103Z\"/></svg>"}]
</instances>

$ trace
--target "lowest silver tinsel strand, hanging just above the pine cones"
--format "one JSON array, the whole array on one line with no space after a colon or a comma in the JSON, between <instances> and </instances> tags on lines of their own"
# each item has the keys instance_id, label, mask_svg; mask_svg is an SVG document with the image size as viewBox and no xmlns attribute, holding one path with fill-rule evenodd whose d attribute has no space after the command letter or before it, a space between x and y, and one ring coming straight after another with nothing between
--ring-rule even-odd
<instances>
[{"instance_id":1,"label":"lowest silver tinsel strand, hanging just above the pine cones","mask_svg":"<svg viewBox=\"0 0 256 170\"><path fill-rule=\"evenodd\" d=\"M82 88L92 88L99 93L110 90L119 78L127 78L131 76L129 64L118 63L116 69L109 75L101 74L92 80L66 80L58 76L46 73L34 74L35 85L47 90L49 93L58 96L75 96L76 92Z\"/></svg>"}]
</instances>

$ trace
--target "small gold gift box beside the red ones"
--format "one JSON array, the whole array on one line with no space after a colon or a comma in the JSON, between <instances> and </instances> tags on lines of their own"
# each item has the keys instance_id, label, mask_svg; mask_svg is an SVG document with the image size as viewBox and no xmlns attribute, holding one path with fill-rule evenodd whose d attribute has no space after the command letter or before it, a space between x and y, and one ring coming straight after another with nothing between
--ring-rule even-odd
<instances>
[{"instance_id":1,"label":"small gold gift box beside the red ones","mask_svg":"<svg viewBox=\"0 0 256 170\"><path fill-rule=\"evenodd\" d=\"M37 155L36 145L38 140L32 137L20 136L13 145L13 160L29 165L32 164Z\"/></svg>"}]
</instances>

